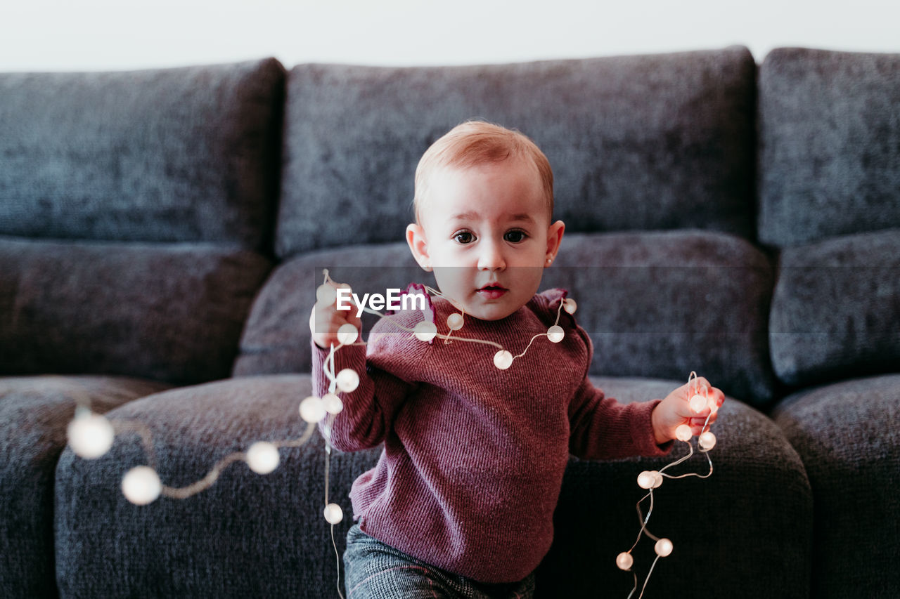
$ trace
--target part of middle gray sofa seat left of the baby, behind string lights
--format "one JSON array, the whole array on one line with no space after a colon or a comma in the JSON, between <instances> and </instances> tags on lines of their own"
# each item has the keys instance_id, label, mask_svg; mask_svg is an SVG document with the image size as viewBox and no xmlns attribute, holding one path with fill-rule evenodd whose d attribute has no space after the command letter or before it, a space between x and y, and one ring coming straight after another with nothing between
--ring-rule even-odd
<instances>
[{"instance_id":1,"label":"part of middle gray sofa seat left of the baby, behind string lights","mask_svg":"<svg viewBox=\"0 0 900 599\"><path fill-rule=\"evenodd\" d=\"M168 487L185 487L215 463L257 441L297 439L307 430L298 406L309 375L246 377L172 389L113 410L152 432L157 471ZM337 596L337 570L325 505L323 442L317 431L281 464L260 475L241 461L210 488L186 499L160 496L132 505L120 490L131 468L148 464L136 434L118 436L97 460L65 451L56 485L59 591L77 597ZM378 451L335 454L331 501L352 524L347 493ZM101 533L98 533L101 532Z\"/></svg>"}]
</instances>

